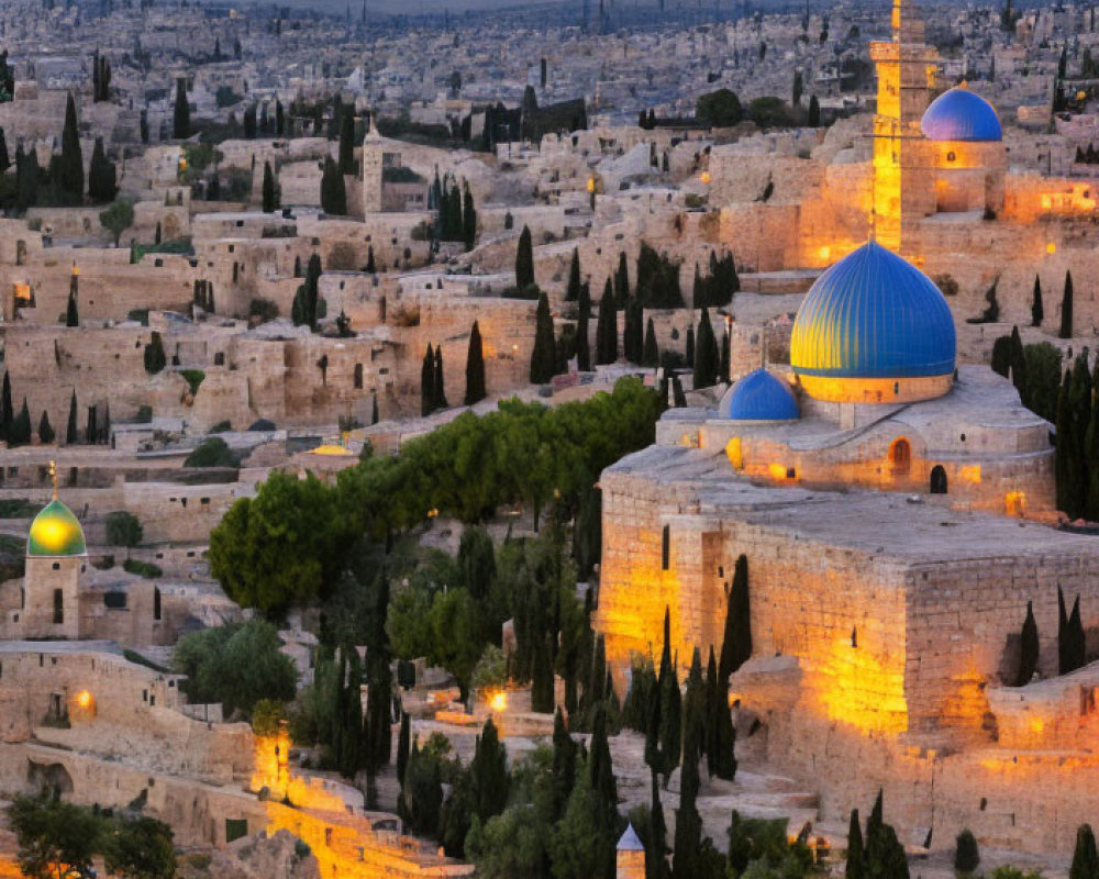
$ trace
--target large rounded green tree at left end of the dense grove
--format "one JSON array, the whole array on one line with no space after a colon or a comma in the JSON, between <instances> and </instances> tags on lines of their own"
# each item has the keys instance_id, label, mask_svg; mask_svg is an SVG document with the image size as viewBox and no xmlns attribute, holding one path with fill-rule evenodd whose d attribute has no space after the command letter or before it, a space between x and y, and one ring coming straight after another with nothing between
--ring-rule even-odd
<instances>
[{"instance_id":1,"label":"large rounded green tree at left end of the dense grove","mask_svg":"<svg viewBox=\"0 0 1099 879\"><path fill-rule=\"evenodd\" d=\"M312 476L273 472L210 533L210 570L237 604L276 613L326 593L354 532Z\"/></svg>"}]
</instances>

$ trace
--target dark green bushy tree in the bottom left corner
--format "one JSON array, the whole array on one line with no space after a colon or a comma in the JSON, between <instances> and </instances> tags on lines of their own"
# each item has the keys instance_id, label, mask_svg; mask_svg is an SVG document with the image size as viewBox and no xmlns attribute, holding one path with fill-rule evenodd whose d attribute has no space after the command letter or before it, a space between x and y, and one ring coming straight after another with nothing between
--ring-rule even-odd
<instances>
[{"instance_id":1,"label":"dark green bushy tree in the bottom left corner","mask_svg":"<svg viewBox=\"0 0 1099 879\"><path fill-rule=\"evenodd\" d=\"M104 822L90 809L43 791L16 794L8 805L8 826L19 842L20 869L35 879L64 879L60 865L87 872L100 849Z\"/></svg>"}]
</instances>

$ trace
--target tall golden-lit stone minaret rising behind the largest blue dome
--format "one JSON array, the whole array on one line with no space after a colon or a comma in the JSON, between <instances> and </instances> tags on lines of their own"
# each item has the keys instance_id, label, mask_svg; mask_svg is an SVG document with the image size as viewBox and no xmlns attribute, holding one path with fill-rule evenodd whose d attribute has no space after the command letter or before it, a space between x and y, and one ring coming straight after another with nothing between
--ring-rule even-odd
<instances>
[{"instance_id":1,"label":"tall golden-lit stone minaret rising behind the largest blue dome","mask_svg":"<svg viewBox=\"0 0 1099 879\"><path fill-rule=\"evenodd\" d=\"M915 0L893 0L892 40L870 44L878 74L870 223L879 244L906 257L919 249L915 223L935 212L931 156L920 120L939 56L923 40Z\"/></svg>"}]
</instances>

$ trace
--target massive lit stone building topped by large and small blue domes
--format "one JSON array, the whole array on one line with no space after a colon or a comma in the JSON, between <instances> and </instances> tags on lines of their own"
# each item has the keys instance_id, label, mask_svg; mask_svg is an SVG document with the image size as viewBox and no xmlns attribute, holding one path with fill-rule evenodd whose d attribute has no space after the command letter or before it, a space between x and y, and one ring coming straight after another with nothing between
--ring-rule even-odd
<instances>
[{"instance_id":1,"label":"massive lit stone building topped by large and small blue domes","mask_svg":"<svg viewBox=\"0 0 1099 879\"><path fill-rule=\"evenodd\" d=\"M882 787L907 842L965 826L1047 850L1099 809L1099 669L1057 665L1058 590L1099 623L1099 546L1043 523L1050 425L1006 379L956 368L950 309L914 266L874 242L841 260L798 312L788 368L741 378L717 411L670 410L600 486L595 624L620 688L658 655L665 608L679 656L720 649L743 555L741 734L822 817ZM1040 679L1017 687L1029 607Z\"/></svg>"}]
</instances>

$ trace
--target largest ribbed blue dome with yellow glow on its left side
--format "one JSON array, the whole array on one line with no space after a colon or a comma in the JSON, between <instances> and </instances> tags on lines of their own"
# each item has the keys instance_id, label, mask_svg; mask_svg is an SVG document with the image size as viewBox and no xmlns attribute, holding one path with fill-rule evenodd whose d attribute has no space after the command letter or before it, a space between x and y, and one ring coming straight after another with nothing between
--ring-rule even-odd
<instances>
[{"instance_id":1,"label":"largest ribbed blue dome with yellow glow on its left side","mask_svg":"<svg viewBox=\"0 0 1099 879\"><path fill-rule=\"evenodd\" d=\"M917 378L954 371L951 308L915 266L876 242L817 279L793 321L790 365L803 376Z\"/></svg>"}]
</instances>

